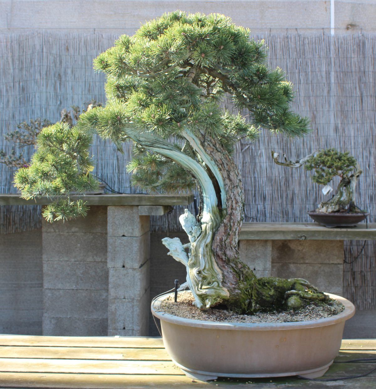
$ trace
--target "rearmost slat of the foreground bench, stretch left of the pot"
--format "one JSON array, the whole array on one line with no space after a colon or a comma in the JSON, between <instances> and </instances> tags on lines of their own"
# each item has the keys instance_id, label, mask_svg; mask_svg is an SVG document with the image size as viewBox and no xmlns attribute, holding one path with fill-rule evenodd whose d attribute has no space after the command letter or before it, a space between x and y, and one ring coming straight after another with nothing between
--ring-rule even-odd
<instances>
[{"instance_id":1,"label":"rearmost slat of the foreground bench, stretch left of the pot","mask_svg":"<svg viewBox=\"0 0 376 389\"><path fill-rule=\"evenodd\" d=\"M0 346L163 348L162 338L0 335Z\"/></svg>"}]
</instances>

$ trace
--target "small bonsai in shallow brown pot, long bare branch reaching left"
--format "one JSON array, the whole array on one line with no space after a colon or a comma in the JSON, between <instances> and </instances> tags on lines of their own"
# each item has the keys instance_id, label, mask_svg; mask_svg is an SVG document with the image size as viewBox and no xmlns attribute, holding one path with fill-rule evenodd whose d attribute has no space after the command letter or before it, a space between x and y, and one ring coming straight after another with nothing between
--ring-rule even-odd
<instances>
[{"instance_id":1,"label":"small bonsai in shallow brown pot, long bare branch reaching left","mask_svg":"<svg viewBox=\"0 0 376 389\"><path fill-rule=\"evenodd\" d=\"M277 165L305 169L312 172L311 179L316 184L324 185L324 195L332 191L329 183L338 176L340 181L334 195L330 200L321 202L317 209L308 212L313 220L326 227L353 227L369 215L355 203L355 189L362 170L357 160L348 151L339 152L336 149L324 149L312 154L288 161L283 154L284 161L279 161L279 154L271 152Z\"/></svg>"}]
</instances>

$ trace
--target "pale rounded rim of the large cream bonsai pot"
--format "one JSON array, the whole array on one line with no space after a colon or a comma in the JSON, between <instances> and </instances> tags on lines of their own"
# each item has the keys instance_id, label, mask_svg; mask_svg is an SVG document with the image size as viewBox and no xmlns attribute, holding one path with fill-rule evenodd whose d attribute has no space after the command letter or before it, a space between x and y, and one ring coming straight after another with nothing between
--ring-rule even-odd
<instances>
[{"instance_id":1,"label":"pale rounded rim of the large cream bonsai pot","mask_svg":"<svg viewBox=\"0 0 376 389\"><path fill-rule=\"evenodd\" d=\"M178 317L171 314L166 314L164 312L156 312L161 306L161 302L166 299L168 296L173 296L173 293L166 293L162 296L156 297L152 300L151 311L154 316L160 320L168 321L173 324L178 324L182 326L189 327L201 327L208 329L226 329L226 330L237 330L237 331L268 331L275 329L301 329L301 328L315 328L315 327L324 327L331 326L345 320L350 319L355 314L355 307L352 302L346 300L344 297L337 296L336 294L325 293L330 298L340 301L345 309L334 316L325 317L317 320L309 321L297 321L297 322L283 322L283 323L234 323L234 322L216 322L216 321L204 321L196 319L186 319L184 317Z\"/></svg>"}]
</instances>

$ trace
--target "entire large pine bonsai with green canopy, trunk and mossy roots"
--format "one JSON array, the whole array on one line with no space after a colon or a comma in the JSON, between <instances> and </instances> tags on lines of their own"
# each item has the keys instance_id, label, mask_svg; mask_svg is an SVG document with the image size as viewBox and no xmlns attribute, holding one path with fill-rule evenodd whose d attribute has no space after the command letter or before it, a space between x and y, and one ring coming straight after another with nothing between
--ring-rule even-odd
<instances>
[{"instance_id":1,"label":"entire large pine bonsai with green canopy, trunk and mossy roots","mask_svg":"<svg viewBox=\"0 0 376 389\"><path fill-rule=\"evenodd\" d=\"M188 210L180 216L189 242L163 239L187 268L195 305L224 304L243 313L327 300L306 280L257 279L239 259L244 197L234 145L255 139L261 128L288 136L309 130L308 119L289 108L292 85L280 68L268 68L264 42L249 34L223 15L177 11L145 23L132 37L122 35L94 60L107 77L105 107L80 115L72 130L60 123L42 130L33 163L15 178L27 198L68 195L75 186L94 185L83 152L88 137L97 133L120 151L132 141L128 168L135 185L165 193L199 187L198 217ZM249 112L249 122L220 108L224 95ZM68 199L52 203L45 216L52 221L85 212Z\"/></svg>"}]
</instances>

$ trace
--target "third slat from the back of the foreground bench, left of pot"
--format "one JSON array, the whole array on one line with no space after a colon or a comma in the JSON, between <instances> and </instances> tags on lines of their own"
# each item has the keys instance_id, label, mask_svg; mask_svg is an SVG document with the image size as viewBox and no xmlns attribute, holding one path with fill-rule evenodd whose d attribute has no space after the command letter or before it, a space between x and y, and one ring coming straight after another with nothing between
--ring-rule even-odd
<instances>
[{"instance_id":1,"label":"third slat from the back of the foreground bench, left of pot","mask_svg":"<svg viewBox=\"0 0 376 389\"><path fill-rule=\"evenodd\" d=\"M171 361L0 358L0 371L22 373L182 374Z\"/></svg>"}]
</instances>

